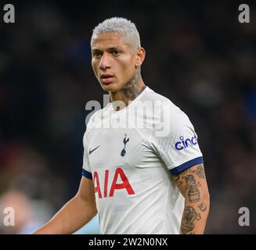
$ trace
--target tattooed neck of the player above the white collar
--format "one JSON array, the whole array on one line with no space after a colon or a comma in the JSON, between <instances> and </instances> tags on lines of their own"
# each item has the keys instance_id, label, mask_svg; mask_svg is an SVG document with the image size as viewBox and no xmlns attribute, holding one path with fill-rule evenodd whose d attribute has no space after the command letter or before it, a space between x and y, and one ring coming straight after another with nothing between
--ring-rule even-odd
<instances>
[{"instance_id":1,"label":"tattooed neck of the player above the white collar","mask_svg":"<svg viewBox=\"0 0 256 250\"><path fill-rule=\"evenodd\" d=\"M123 109L133 101L146 87L142 77L139 77L138 81L133 80L132 82L126 84L120 91L110 92L110 100L113 102L113 107L115 110ZM119 101L119 104L118 102ZM120 102L123 102L124 105L120 106Z\"/></svg>"}]
</instances>

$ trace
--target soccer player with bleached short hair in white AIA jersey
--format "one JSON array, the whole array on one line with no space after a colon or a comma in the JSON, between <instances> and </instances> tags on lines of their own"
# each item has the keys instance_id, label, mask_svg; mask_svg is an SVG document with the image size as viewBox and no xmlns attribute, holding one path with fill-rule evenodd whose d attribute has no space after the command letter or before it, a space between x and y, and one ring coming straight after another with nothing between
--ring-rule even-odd
<instances>
[{"instance_id":1,"label":"soccer player with bleached short hair in white AIA jersey","mask_svg":"<svg viewBox=\"0 0 256 250\"><path fill-rule=\"evenodd\" d=\"M101 234L203 234L209 212L204 160L188 116L147 87L135 24L93 30L92 68L110 103L84 136L77 195L35 234L70 234L99 213Z\"/></svg>"}]
</instances>

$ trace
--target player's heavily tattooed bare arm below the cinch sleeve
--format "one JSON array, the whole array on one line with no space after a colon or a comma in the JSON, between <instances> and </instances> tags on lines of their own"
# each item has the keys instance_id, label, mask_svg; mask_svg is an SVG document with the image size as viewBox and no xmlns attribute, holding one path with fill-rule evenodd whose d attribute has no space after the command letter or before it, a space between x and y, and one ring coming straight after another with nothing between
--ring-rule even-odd
<instances>
[{"instance_id":1,"label":"player's heavily tattooed bare arm below the cinch sleeve","mask_svg":"<svg viewBox=\"0 0 256 250\"><path fill-rule=\"evenodd\" d=\"M185 198L180 233L204 234L210 209L210 195L204 173L204 164L192 166L172 177Z\"/></svg>"}]
</instances>

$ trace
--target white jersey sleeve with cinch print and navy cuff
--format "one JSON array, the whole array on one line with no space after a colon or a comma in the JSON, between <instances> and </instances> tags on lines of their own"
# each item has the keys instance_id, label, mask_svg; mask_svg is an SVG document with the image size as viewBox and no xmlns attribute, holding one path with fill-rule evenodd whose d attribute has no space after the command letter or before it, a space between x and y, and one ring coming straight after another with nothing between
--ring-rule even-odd
<instances>
[{"instance_id":1,"label":"white jersey sleeve with cinch print and navy cuff","mask_svg":"<svg viewBox=\"0 0 256 250\"><path fill-rule=\"evenodd\" d=\"M181 173L204 162L198 137L189 117L173 104L164 107L164 116L164 135L157 136L154 132L151 134L151 140L154 150L171 174Z\"/></svg>"}]
</instances>

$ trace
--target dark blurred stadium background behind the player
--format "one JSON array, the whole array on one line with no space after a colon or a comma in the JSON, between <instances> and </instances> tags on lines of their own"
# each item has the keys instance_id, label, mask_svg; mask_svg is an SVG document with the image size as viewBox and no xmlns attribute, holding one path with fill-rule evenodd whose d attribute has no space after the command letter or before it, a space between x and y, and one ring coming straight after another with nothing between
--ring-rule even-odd
<instances>
[{"instance_id":1,"label":"dark blurred stadium background behind the player","mask_svg":"<svg viewBox=\"0 0 256 250\"><path fill-rule=\"evenodd\" d=\"M90 37L111 16L136 23L143 79L196 127L211 193L206 233L256 233L254 1L9 3L16 23L0 20L0 206L16 209L16 227L2 225L0 209L0 234L30 234L78 190L85 104L104 94ZM241 3L251 23L238 22ZM240 207L250 227L239 226ZM98 232L96 218L78 233Z\"/></svg>"}]
</instances>

